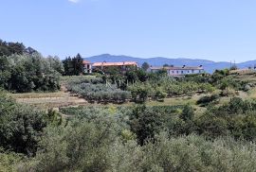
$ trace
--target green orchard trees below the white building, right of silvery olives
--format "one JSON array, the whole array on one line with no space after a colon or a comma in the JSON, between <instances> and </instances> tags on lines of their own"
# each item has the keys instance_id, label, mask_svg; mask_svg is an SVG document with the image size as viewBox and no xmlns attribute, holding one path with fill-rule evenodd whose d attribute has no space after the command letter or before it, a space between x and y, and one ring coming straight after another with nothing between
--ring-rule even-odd
<instances>
[{"instance_id":1,"label":"green orchard trees below the white building, right of silvery olives","mask_svg":"<svg viewBox=\"0 0 256 172\"><path fill-rule=\"evenodd\" d=\"M142 102L146 101L147 98L162 100L165 97L211 93L214 89L210 83L179 81L172 77L152 78L147 82L137 82L128 87L133 99Z\"/></svg>"}]
</instances>

